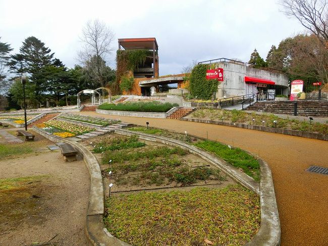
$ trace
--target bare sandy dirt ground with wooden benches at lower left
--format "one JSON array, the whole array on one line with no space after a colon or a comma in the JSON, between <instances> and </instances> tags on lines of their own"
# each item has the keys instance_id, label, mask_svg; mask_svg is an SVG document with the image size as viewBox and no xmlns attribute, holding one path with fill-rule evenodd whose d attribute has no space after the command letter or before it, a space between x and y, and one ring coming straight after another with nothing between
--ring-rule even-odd
<instances>
[{"instance_id":1,"label":"bare sandy dirt ground with wooden benches at lower left","mask_svg":"<svg viewBox=\"0 0 328 246\"><path fill-rule=\"evenodd\" d=\"M81 158L64 162L47 145L54 143L36 134L32 153L0 160L0 179L41 175L2 196L0 245L86 245L87 167Z\"/></svg>"}]
</instances>

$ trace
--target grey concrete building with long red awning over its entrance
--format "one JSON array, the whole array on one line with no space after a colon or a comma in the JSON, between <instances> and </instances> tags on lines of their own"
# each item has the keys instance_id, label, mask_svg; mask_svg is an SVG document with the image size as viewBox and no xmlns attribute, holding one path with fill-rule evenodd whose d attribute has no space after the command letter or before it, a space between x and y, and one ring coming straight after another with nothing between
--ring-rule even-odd
<instances>
[{"instance_id":1,"label":"grey concrete building with long red awning over its entrance","mask_svg":"<svg viewBox=\"0 0 328 246\"><path fill-rule=\"evenodd\" d=\"M223 68L224 81L217 86L216 98L247 95L275 90L275 94L288 95L288 77L285 73L268 68L253 68L248 63L226 58L200 62Z\"/></svg>"}]
</instances>

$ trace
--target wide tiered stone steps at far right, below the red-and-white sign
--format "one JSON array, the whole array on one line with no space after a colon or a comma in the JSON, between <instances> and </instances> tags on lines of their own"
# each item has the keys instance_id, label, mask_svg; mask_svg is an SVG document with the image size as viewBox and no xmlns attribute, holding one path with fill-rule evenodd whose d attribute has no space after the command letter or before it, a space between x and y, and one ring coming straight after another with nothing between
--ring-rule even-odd
<instances>
[{"instance_id":1,"label":"wide tiered stone steps at far right, below the red-and-white sign","mask_svg":"<svg viewBox=\"0 0 328 246\"><path fill-rule=\"evenodd\" d=\"M256 102L247 108L249 111L258 111L274 114L294 114L295 101ZM297 102L297 115L328 117L328 101L326 100L299 100Z\"/></svg>"}]
</instances>

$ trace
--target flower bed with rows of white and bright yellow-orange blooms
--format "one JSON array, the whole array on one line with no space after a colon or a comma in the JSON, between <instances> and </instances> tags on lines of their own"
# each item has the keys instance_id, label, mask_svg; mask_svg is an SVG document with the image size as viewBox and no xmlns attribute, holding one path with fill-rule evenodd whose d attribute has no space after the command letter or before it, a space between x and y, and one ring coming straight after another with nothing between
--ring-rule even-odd
<instances>
[{"instance_id":1,"label":"flower bed with rows of white and bright yellow-orange blooms","mask_svg":"<svg viewBox=\"0 0 328 246\"><path fill-rule=\"evenodd\" d=\"M36 127L60 137L73 137L75 135L80 135L93 130L93 128L90 127L57 120L50 120L45 123L38 124Z\"/></svg>"}]
</instances>

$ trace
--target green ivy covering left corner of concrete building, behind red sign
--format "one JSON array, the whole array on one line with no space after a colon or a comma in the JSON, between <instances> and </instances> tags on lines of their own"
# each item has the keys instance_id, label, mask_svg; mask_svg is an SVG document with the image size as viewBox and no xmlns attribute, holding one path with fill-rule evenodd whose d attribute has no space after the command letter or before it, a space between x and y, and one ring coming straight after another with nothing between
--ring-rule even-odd
<instances>
[{"instance_id":1,"label":"green ivy covering left corner of concrete building, behind red sign","mask_svg":"<svg viewBox=\"0 0 328 246\"><path fill-rule=\"evenodd\" d=\"M217 91L218 81L216 79L206 79L206 70L210 68L209 64L198 64L191 71L189 90L193 97L209 100L213 92Z\"/></svg>"}]
</instances>

